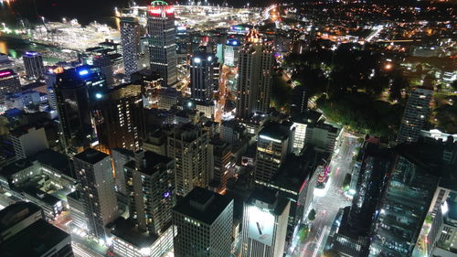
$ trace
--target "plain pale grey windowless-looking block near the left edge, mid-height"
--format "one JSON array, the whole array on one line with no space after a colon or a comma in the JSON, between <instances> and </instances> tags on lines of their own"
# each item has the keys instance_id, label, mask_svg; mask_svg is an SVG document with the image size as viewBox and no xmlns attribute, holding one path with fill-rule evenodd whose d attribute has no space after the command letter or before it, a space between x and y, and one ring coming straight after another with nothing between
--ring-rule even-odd
<instances>
[{"instance_id":1,"label":"plain pale grey windowless-looking block near the left edge, mid-height","mask_svg":"<svg viewBox=\"0 0 457 257\"><path fill-rule=\"evenodd\" d=\"M48 149L48 139L43 127L19 127L10 132L9 138L13 143L17 159L24 159Z\"/></svg>"}]
</instances>

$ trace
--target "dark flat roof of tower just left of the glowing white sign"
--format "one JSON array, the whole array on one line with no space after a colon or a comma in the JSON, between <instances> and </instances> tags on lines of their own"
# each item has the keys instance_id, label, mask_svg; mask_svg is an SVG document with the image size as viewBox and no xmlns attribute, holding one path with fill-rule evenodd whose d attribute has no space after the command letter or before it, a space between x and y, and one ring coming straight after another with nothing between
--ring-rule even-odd
<instances>
[{"instance_id":1,"label":"dark flat roof of tower just left of the glowing white sign","mask_svg":"<svg viewBox=\"0 0 457 257\"><path fill-rule=\"evenodd\" d=\"M212 224L232 200L202 187L195 187L173 210L194 220Z\"/></svg>"}]
</instances>

